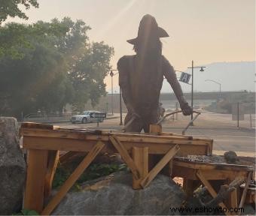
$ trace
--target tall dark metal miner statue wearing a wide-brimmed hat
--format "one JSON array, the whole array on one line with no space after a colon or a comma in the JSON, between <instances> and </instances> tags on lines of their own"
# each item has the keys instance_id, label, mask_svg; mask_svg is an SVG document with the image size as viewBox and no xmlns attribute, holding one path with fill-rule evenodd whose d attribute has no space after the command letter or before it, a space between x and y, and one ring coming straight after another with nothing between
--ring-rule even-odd
<instances>
[{"instance_id":1,"label":"tall dark metal miner statue wearing a wide-brimmed hat","mask_svg":"<svg viewBox=\"0 0 256 216\"><path fill-rule=\"evenodd\" d=\"M124 120L124 124L129 122L127 132L140 132L144 129L148 133L149 125L159 120L158 106L163 77L172 86L182 113L192 113L172 65L162 55L160 37L169 35L158 27L154 17L145 15L139 23L138 36L127 40L133 44L136 55L124 55L117 62L119 85L128 110ZM132 118L134 121L130 121Z\"/></svg>"}]
</instances>

